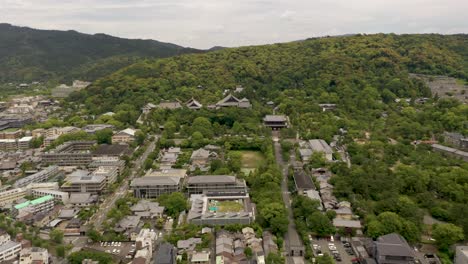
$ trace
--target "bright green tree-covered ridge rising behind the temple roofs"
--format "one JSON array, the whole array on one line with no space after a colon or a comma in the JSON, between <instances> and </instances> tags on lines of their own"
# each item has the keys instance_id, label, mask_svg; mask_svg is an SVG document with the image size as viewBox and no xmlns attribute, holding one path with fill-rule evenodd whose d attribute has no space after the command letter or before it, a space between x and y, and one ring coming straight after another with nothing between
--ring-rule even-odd
<instances>
[{"instance_id":1,"label":"bright green tree-covered ridge rising behind the temple roofs","mask_svg":"<svg viewBox=\"0 0 468 264\"><path fill-rule=\"evenodd\" d=\"M286 89L300 89L312 101L322 92L340 98L346 90L366 86L379 93L387 89L384 95L428 96L429 90L410 80L408 73L466 78L467 43L466 35L378 34L223 49L140 61L100 79L81 96L93 112L110 111L123 102L140 107L176 97L213 103L224 89L238 84L246 88L244 95L257 101L278 99Z\"/></svg>"}]
</instances>

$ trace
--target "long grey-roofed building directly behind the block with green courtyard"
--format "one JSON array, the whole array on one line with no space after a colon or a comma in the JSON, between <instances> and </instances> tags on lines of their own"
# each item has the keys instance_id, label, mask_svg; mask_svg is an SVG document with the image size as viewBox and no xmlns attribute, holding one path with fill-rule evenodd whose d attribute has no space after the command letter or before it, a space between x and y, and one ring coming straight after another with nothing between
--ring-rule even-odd
<instances>
[{"instance_id":1,"label":"long grey-roofed building directly behind the block with green courtyard","mask_svg":"<svg viewBox=\"0 0 468 264\"><path fill-rule=\"evenodd\" d=\"M244 180L229 175L191 176L187 180L187 191L189 195L237 195L247 194L247 185Z\"/></svg>"}]
</instances>

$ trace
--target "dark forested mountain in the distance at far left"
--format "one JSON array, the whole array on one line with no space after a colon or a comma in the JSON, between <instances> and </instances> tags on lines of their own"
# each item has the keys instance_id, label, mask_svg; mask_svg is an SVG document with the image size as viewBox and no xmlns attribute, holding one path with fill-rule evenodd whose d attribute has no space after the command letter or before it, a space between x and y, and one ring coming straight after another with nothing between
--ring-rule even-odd
<instances>
[{"instance_id":1,"label":"dark forested mountain in the distance at far left","mask_svg":"<svg viewBox=\"0 0 468 264\"><path fill-rule=\"evenodd\" d=\"M0 24L0 82L73 78L92 81L137 59L191 52L200 51L155 40Z\"/></svg>"}]
</instances>

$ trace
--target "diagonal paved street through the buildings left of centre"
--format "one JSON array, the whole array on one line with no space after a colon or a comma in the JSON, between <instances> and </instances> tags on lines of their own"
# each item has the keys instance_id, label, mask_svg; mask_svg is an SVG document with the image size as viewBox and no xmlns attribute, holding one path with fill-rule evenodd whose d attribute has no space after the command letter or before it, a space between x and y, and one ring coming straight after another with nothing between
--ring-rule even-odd
<instances>
[{"instance_id":1,"label":"diagonal paved street through the buildings left of centre","mask_svg":"<svg viewBox=\"0 0 468 264\"><path fill-rule=\"evenodd\" d=\"M111 194L110 196L108 196L104 200L104 202L101 204L101 206L99 207L99 210L93 215L93 217L91 217L91 219L89 220L89 223L93 224L97 230L100 230L102 223L104 222L104 220L106 220L107 213L110 211L110 209L112 209L112 207L114 207L115 202L118 199L125 196L129 188L129 184L128 184L129 180L132 180L133 178L135 178L137 172L143 166L143 163L145 162L148 155L151 152L153 152L154 148L156 147L155 142L157 140L158 139L155 137L155 140L150 142L146 151L140 156L140 158L138 158L135 161L134 166L131 169L130 176L127 179L123 180L122 184L117 189L117 191Z\"/></svg>"}]
</instances>

